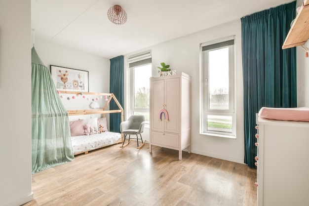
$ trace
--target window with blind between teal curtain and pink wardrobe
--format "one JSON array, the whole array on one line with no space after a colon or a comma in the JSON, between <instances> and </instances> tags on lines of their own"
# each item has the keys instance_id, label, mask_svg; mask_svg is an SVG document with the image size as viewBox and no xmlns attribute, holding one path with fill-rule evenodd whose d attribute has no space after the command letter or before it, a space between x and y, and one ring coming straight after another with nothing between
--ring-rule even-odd
<instances>
[{"instance_id":1,"label":"window with blind between teal curtain and pink wardrobe","mask_svg":"<svg viewBox=\"0 0 309 206\"><path fill-rule=\"evenodd\" d=\"M144 115L149 124L150 83L152 64L150 52L128 59L130 67L130 114Z\"/></svg>"}]
</instances>

